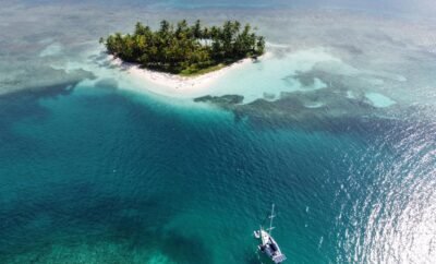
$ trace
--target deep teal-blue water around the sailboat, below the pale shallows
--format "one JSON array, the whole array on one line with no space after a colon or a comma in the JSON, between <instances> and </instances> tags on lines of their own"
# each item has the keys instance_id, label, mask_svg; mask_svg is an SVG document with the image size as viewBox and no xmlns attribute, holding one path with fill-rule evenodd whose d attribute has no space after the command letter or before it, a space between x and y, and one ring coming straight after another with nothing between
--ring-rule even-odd
<instances>
[{"instance_id":1,"label":"deep teal-blue water around the sailboat, below the pale shallows","mask_svg":"<svg viewBox=\"0 0 436 264\"><path fill-rule=\"evenodd\" d=\"M396 239L371 240L362 252L354 245L408 208L428 207L425 187L435 184L434 139L408 154L420 145L410 136L434 133L425 123L362 119L344 132L341 122L325 131L237 122L221 110L86 87L13 95L0 107L7 263L258 263L252 231L272 202L275 236L290 263L349 263L352 252L383 261L384 252L371 252ZM396 211L368 218L391 203ZM434 217L417 209L408 228L433 225L420 218L426 214ZM359 229L360 238L350 237Z\"/></svg>"}]
</instances>

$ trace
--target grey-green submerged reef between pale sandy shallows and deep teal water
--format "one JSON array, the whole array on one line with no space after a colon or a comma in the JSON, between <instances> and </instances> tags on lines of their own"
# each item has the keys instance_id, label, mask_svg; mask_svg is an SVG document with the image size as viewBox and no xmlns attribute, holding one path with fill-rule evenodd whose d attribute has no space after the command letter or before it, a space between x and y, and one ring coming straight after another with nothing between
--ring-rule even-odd
<instances>
[{"instance_id":1,"label":"grey-green submerged reef between pale sandy shallows and deep teal water","mask_svg":"<svg viewBox=\"0 0 436 264\"><path fill-rule=\"evenodd\" d=\"M342 86L306 92L281 93L276 100L256 99L241 104L237 95L204 96L204 101L232 111L235 121L247 119L257 127L293 127L315 131L368 131L396 123L388 108L374 107L363 94L349 97ZM350 111L352 109L352 111Z\"/></svg>"}]
</instances>

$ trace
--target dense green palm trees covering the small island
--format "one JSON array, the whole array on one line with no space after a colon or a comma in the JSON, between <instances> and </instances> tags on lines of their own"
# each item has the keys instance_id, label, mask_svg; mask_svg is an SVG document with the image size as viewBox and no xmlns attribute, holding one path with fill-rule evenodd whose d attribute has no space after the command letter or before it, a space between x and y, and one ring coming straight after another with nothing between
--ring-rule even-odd
<instances>
[{"instance_id":1,"label":"dense green palm trees covering the small island","mask_svg":"<svg viewBox=\"0 0 436 264\"><path fill-rule=\"evenodd\" d=\"M133 34L116 33L100 38L109 53L144 68L182 75L202 74L243 58L257 58L265 51L265 39L250 24L227 21L222 26L160 22L152 31L137 22Z\"/></svg>"}]
</instances>

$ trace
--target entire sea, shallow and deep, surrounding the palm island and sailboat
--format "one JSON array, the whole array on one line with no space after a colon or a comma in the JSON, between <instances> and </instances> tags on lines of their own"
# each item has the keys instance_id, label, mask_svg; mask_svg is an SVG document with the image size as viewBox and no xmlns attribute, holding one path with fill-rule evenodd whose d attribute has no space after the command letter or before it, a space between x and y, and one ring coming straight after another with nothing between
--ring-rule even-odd
<instances>
[{"instance_id":1,"label":"entire sea, shallow and deep, surrounding the palm island and sailboat","mask_svg":"<svg viewBox=\"0 0 436 264\"><path fill-rule=\"evenodd\" d=\"M436 260L433 1L52 1L0 8L0 263ZM268 56L153 93L98 38L238 19Z\"/></svg>"}]
</instances>

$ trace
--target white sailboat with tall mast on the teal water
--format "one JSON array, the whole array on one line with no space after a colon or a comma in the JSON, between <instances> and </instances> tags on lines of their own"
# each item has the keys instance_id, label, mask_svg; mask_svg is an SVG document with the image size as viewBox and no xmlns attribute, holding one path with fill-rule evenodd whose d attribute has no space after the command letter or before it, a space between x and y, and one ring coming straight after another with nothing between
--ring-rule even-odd
<instances>
[{"instance_id":1,"label":"white sailboat with tall mast on the teal water","mask_svg":"<svg viewBox=\"0 0 436 264\"><path fill-rule=\"evenodd\" d=\"M271 236L271 231L274 229L272 227L274 217L275 215L274 215L274 204L272 204L271 215L269 216L269 228L264 229L261 226L259 230L254 231L254 237L261 240L258 249L263 253L265 253L269 259L271 259L274 263L279 264L286 261L287 257L283 253L281 253L278 243L276 242L276 240L274 240Z\"/></svg>"}]
</instances>

